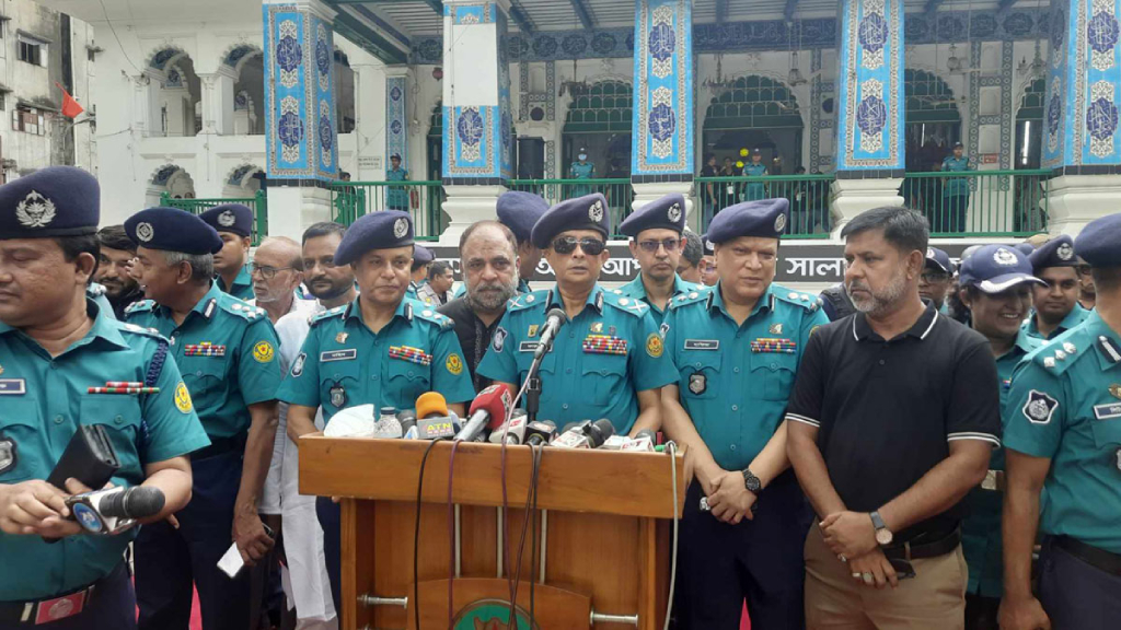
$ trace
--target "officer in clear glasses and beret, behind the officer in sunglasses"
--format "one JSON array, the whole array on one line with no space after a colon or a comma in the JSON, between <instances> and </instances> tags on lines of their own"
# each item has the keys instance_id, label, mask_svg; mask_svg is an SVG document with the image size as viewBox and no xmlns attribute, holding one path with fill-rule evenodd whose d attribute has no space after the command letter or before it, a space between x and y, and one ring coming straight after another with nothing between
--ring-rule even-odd
<instances>
[{"instance_id":1,"label":"officer in clear glasses and beret, behind the officer in sunglasses","mask_svg":"<svg viewBox=\"0 0 1121 630\"><path fill-rule=\"evenodd\" d=\"M619 225L630 237L631 257L641 271L615 293L641 299L661 324L666 305L676 296L697 290L697 286L677 276L677 263L685 247L685 197L674 193L655 200L631 213Z\"/></svg>"}]
</instances>

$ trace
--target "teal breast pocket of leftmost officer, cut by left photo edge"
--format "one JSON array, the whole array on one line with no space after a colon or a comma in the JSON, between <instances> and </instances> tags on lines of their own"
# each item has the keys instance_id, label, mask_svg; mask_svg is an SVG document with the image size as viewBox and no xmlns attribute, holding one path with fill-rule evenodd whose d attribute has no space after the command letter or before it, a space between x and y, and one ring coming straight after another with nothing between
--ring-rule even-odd
<instances>
[{"instance_id":1,"label":"teal breast pocket of leftmost officer, cut by left photo edge","mask_svg":"<svg viewBox=\"0 0 1121 630\"><path fill-rule=\"evenodd\" d=\"M0 483L46 479L55 463L48 461L45 438L34 398L0 397Z\"/></svg>"}]
</instances>

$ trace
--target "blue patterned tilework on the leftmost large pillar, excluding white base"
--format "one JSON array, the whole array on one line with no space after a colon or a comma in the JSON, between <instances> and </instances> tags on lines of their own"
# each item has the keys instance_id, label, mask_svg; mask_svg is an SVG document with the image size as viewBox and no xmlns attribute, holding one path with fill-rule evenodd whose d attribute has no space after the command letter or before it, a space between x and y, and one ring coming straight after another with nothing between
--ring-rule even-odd
<instances>
[{"instance_id":1,"label":"blue patterned tilework on the leftmost large pillar, excluding white base","mask_svg":"<svg viewBox=\"0 0 1121 630\"><path fill-rule=\"evenodd\" d=\"M334 179L331 24L297 4L266 4L262 11L268 176Z\"/></svg>"}]
</instances>

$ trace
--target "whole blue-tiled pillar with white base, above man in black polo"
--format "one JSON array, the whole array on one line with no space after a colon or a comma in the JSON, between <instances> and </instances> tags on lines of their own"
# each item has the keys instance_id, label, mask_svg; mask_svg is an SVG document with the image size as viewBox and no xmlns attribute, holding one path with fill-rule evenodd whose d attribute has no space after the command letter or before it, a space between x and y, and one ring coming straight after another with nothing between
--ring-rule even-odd
<instances>
[{"instance_id":1,"label":"whole blue-tiled pillar with white base, above man in black polo","mask_svg":"<svg viewBox=\"0 0 1121 630\"><path fill-rule=\"evenodd\" d=\"M865 210L904 203L904 0L840 9L834 235Z\"/></svg>"}]
</instances>

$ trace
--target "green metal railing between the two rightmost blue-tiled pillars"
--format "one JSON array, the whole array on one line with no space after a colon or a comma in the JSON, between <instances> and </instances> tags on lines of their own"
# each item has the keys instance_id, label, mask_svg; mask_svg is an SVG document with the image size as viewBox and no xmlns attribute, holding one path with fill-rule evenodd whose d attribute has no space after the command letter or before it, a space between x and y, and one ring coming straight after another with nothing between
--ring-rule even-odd
<instances>
[{"instance_id":1,"label":"green metal railing between the two rightmost blue-tiled pillars","mask_svg":"<svg viewBox=\"0 0 1121 630\"><path fill-rule=\"evenodd\" d=\"M930 221L932 237L1027 237L1047 230L1050 170L907 173L907 207Z\"/></svg>"}]
</instances>

